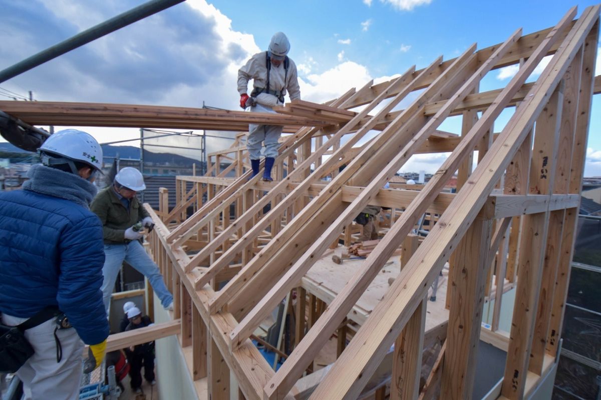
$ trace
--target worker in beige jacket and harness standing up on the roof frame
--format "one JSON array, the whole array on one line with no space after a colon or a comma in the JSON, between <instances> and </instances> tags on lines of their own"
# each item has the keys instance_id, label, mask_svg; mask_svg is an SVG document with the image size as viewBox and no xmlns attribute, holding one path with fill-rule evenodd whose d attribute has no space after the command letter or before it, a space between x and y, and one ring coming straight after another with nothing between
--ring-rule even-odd
<instances>
[{"instance_id":1,"label":"worker in beige jacket and harness standing up on the roof frame","mask_svg":"<svg viewBox=\"0 0 601 400\"><path fill-rule=\"evenodd\" d=\"M276 32L269 43L269 50L252 56L246 64L238 70L238 92L240 94L240 107L250 107L251 112L275 113L273 106L284 104L286 91L290 100L301 98L301 89L298 82L296 64L287 54L290 51L290 42L282 32ZM252 82L252 92L249 96L248 81ZM273 181L271 170L273 162L278 157L279 137L282 135L281 126L277 125L248 125L248 149L251 159L252 176L259 173L261 155L261 142L265 145L265 169L263 181Z\"/></svg>"}]
</instances>

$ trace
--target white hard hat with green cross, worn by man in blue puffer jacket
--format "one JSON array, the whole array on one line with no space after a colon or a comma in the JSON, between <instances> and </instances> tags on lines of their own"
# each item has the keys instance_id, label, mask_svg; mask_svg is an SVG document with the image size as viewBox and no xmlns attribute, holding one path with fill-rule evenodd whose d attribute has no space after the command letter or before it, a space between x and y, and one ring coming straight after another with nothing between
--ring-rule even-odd
<instances>
[{"instance_id":1,"label":"white hard hat with green cross, worn by man in blue puffer jacket","mask_svg":"<svg viewBox=\"0 0 601 400\"><path fill-rule=\"evenodd\" d=\"M84 131L76 129L58 131L50 135L38 151L81 161L99 171L102 168L102 148L91 134ZM51 158L43 158L42 162L46 165L57 164L52 163Z\"/></svg>"}]
</instances>

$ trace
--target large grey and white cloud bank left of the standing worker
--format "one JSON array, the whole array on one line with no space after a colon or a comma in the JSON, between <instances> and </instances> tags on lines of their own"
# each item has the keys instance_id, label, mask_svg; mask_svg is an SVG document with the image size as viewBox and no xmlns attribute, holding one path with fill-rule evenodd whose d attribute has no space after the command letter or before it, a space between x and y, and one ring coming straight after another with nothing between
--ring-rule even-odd
<instances>
[{"instance_id":1,"label":"large grey and white cloud bank left of the standing worker","mask_svg":"<svg viewBox=\"0 0 601 400\"><path fill-rule=\"evenodd\" d=\"M0 13L0 58L11 65L115 16L123 2L30 0ZM198 40L202 37L203 40ZM189 0L14 77L37 100L235 109L237 70L259 52L250 34L204 0ZM177 62L169 62L177 60ZM82 90L85 88L85 90ZM231 95L234 94L234 95Z\"/></svg>"}]
</instances>

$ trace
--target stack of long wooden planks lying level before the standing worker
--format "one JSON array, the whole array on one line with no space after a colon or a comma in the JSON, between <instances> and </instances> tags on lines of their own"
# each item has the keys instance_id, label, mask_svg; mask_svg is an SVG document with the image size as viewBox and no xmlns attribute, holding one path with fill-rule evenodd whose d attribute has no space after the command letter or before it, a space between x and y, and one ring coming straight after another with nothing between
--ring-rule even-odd
<instances>
[{"instance_id":1,"label":"stack of long wooden planks lying level before the standing worker","mask_svg":"<svg viewBox=\"0 0 601 400\"><path fill-rule=\"evenodd\" d=\"M0 101L0 110L29 125L248 131L248 124L267 124L296 132L329 124L305 116L132 104Z\"/></svg>"}]
</instances>

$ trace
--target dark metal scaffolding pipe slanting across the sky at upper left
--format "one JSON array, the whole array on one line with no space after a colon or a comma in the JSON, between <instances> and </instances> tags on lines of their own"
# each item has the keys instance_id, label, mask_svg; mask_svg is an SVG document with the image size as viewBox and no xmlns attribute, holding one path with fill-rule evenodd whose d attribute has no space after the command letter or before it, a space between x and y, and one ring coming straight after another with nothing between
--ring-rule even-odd
<instances>
[{"instance_id":1,"label":"dark metal scaffolding pipe slanting across the sky at upper left","mask_svg":"<svg viewBox=\"0 0 601 400\"><path fill-rule=\"evenodd\" d=\"M159 11L165 10L165 8L169 8L172 5L179 4L183 1L185 0L151 0L145 2L138 7L125 11L124 13L99 23L83 32L79 32L79 34L62 41L61 43L48 47L46 50L42 50L41 52L0 71L0 83L22 74L25 71L29 71L31 68L37 67L40 64L44 64L44 62L50 61L64 53L70 52L73 49L77 49L84 44L90 43L97 38L117 31L117 29L121 29L124 26L156 14Z\"/></svg>"}]
</instances>

